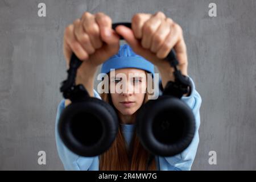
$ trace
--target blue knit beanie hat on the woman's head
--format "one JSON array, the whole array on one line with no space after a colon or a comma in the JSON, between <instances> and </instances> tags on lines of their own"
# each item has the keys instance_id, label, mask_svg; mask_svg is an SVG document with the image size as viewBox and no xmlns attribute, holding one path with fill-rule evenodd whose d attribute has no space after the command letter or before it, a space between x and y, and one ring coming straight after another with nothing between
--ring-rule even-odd
<instances>
[{"instance_id":1,"label":"blue knit beanie hat on the woman's head","mask_svg":"<svg viewBox=\"0 0 256 182\"><path fill-rule=\"evenodd\" d=\"M154 64L137 55L128 44L120 46L116 55L106 60L101 67L101 73L109 73L110 69L137 68L152 73L154 78Z\"/></svg>"}]
</instances>

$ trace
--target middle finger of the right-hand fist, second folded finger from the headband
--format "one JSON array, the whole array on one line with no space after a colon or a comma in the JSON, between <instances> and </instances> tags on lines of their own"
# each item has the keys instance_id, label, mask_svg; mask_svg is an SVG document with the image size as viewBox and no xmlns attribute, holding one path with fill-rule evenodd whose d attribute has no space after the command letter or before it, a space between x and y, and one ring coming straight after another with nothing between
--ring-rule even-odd
<instances>
[{"instance_id":1,"label":"middle finger of the right-hand fist, second folded finger from the headband","mask_svg":"<svg viewBox=\"0 0 256 182\"><path fill-rule=\"evenodd\" d=\"M160 24L164 22L166 16L162 13L154 14L150 19L143 24L142 28L142 47L149 49L151 47L152 36L158 30Z\"/></svg>"}]
</instances>

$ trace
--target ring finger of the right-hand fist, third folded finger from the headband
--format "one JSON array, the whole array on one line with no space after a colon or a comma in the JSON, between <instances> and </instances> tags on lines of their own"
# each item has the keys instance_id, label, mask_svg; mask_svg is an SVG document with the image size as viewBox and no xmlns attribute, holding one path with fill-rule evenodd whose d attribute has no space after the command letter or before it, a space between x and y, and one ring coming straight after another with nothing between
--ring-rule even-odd
<instances>
[{"instance_id":1,"label":"ring finger of the right-hand fist, third folded finger from the headband","mask_svg":"<svg viewBox=\"0 0 256 182\"><path fill-rule=\"evenodd\" d=\"M171 19L167 18L161 25L159 26L158 30L152 37L151 47L150 50L154 53L158 52L159 48L162 46L164 40L166 40L167 35L171 31Z\"/></svg>"}]
</instances>

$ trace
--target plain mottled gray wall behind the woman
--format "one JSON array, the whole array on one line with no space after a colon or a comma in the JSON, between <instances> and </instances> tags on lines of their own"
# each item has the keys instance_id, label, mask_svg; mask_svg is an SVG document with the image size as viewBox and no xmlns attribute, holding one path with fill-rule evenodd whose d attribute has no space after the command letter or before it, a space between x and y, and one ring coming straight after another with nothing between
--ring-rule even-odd
<instances>
[{"instance_id":1,"label":"plain mottled gray wall behind the woman","mask_svg":"<svg viewBox=\"0 0 256 182\"><path fill-rule=\"evenodd\" d=\"M47 6L38 17L38 3ZM217 17L208 16L210 2ZM62 170L55 117L66 76L64 28L84 11L113 22L163 11L183 27L203 103L193 170L256 169L256 1L0 1L0 169ZM46 165L38 151L46 151ZM217 165L208 163L217 152Z\"/></svg>"}]
</instances>

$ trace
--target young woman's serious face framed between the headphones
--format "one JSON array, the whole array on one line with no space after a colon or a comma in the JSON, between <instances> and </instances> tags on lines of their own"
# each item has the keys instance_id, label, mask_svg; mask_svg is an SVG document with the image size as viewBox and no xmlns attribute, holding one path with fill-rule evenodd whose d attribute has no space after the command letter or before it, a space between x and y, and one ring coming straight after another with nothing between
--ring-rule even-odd
<instances>
[{"instance_id":1,"label":"young woman's serious face framed between the headphones","mask_svg":"<svg viewBox=\"0 0 256 182\"><path fill-rule=\"evenodd\" d=\"M115 108L123 115L132 115L143 104L147 88L146 72L136 68L115 69L110 72L109 86L115 86L115 92L110 92Z\"/></svg>"}]
</instances>

